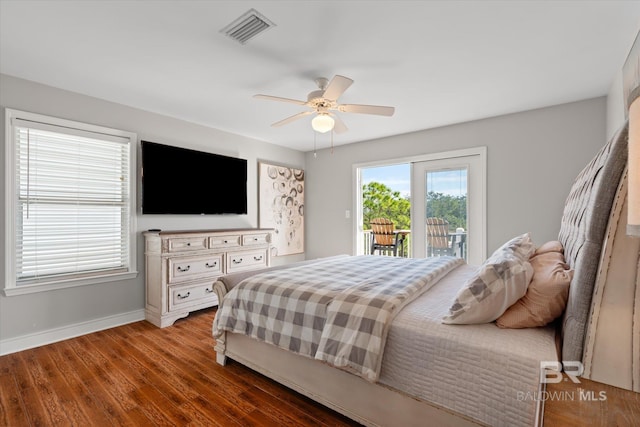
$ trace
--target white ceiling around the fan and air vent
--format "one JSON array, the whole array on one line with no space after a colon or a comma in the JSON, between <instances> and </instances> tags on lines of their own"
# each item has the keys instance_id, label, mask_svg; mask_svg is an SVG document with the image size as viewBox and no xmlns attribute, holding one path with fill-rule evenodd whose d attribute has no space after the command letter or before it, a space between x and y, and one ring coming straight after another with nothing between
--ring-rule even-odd
<instances>
[{"instance_id":1,"label":"white ceiling around the fan and air vent","mask_svg":"<svg viewBox=\"0 0 640 427\"><path fill-rule=\"evenodd\" d=\"M276 26L223 35L255 8ZM335 144L606 95L640 1L0 0L0 72L309 151L316 77L355 83ZM328 134L318 145L328 144Z\"/></svg>"}]
</instances>

